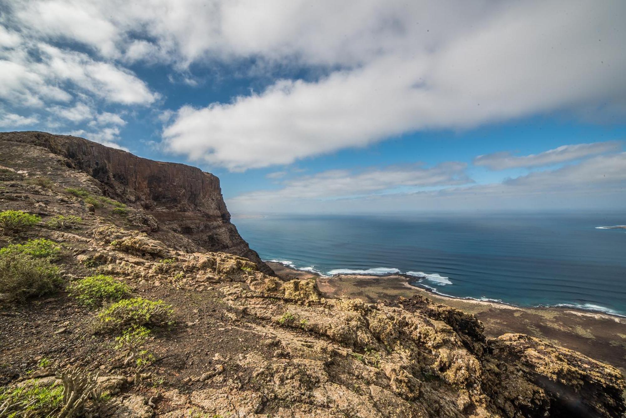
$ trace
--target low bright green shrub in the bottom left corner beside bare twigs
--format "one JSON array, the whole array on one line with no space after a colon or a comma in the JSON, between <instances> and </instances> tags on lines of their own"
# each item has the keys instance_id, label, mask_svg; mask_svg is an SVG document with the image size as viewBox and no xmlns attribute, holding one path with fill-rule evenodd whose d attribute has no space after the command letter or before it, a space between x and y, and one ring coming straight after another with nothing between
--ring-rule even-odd
<instances>
[{"instance_id":1,"label":"low bright green shrub in the bottom left corner beside bare twigs","mask_svg":"<svg viewBox=\"0 0 626 418\"><path fill-rule=\"evenodd\" d=\"M53 417L63 406L62 385L32 385L0 389L0 416Z\"/></svg>"}]
</instances>

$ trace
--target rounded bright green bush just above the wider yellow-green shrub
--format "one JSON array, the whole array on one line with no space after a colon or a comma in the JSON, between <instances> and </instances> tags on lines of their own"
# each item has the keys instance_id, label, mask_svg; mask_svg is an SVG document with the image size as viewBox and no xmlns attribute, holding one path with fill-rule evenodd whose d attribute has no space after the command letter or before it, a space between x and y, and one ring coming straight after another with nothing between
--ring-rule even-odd
<instances>
[{"instance_id":1,"label":"rounded bright green bush just above the wider yellow-green shrub","mask_svg":"<svg viewBox=\"0 0 626 418\"><path fill-rule=\"evenodd\" d=\"M120 280L99 274L78 280L69 287L69 292L82 305L93 308L105 301L117 302L130 295L131 289Z\"/></svg>"}]
</instances>

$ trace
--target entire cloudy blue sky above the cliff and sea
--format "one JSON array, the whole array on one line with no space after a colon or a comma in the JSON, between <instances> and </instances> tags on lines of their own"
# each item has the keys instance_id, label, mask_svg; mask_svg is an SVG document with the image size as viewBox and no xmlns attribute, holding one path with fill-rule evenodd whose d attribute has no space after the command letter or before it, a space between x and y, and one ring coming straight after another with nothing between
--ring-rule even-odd
<instances>
[{"instance_id":1,"label":"entire cloudy blue sky above the cliff and sea","mask_svg":"<svg viewBox=\"0 0 626 418\"><path fill-rule=\"evenodd\" d=\"M626 208L626 2L4 0L0 130L232 213Z\"/></svg>"}]
</instances>

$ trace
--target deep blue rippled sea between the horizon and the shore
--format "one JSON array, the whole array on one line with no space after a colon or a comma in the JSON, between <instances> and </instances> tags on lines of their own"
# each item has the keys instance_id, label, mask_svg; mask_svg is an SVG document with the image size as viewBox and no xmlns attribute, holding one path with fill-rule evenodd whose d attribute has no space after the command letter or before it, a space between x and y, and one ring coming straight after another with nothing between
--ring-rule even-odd
<instances>
[{"instance_id":1,"label":"deep blue rippled sea between the horizon and the shore","mask_svg":"<svg viewBox=\"0 0 626 418\"><path fill-rule=\"evenodd\" d=\"M233 222L261 258L296 268L397 269L454 297L626 315L626 230L596 228L625 225L626 213L268 215Z\"/></svg>"}]
</instances>

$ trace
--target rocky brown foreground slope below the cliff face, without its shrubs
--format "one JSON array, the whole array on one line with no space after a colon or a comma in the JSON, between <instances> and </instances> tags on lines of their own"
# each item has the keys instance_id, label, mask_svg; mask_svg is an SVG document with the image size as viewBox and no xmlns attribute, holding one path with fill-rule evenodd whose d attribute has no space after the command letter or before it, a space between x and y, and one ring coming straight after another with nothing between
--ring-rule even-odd
<instances>
[{"instance_id":1,"label":"rocky brown foreground slope below the cliff face, without its shrubs","mask_svg":"<svg viewBox=\"0 0 626 418\"><path fill-rule=\"evenodd\" d=\"M326 297L315 280L185 249L185 237L160 233L140 205L106 200L106 185L62 158L56 171L36 170L58 155L42 150L39 158L28 170L23 161L0 161L0 211L41 217L4 233L0 247L58 243L64 285L0 302L3 390L36 379L53 384L55 369L72 366L99 373L109 394L91 412L100 417L618 417L626 410L625 382L611 365L524 334L488 338L475 315L422 295L376 303ZM88 193L76 196L70 186ZM59 214L81 221L46 225ZM173 324L152 327L143 347L152 360L140 373L116 348L120 330L99 330L98 308L69 295L68 286L96 273L173 307Z\"/></svg>"}]
</instances>

